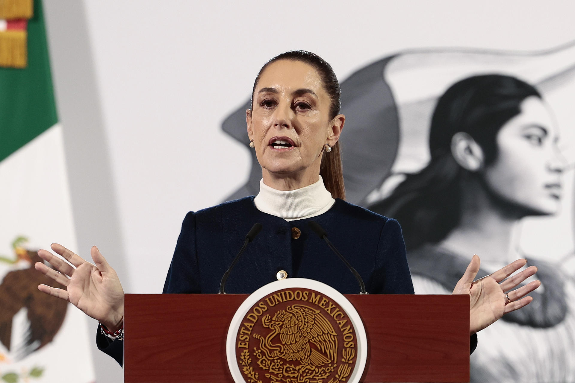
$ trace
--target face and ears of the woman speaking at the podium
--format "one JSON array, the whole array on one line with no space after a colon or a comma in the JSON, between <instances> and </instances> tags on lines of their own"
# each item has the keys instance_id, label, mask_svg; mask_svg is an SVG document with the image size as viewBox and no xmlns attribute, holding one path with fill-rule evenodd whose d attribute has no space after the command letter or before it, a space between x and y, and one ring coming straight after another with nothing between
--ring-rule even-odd
<instances>
[{"instance_id":1,"label":"face and ears of the woman speaking at the podium","mask_svg":"<svg viewBox=\"0 0 575 383\"><path fill-rule=\"evenodd\" d=\"M319 73L301 61L275 61L263 71L253 97L252 110L246 111L248 136L264 180L265 172L317 180L323 146L335 145L344 121L343 115L330 118L331 99Z\"/></svg>"}]
</instances>

